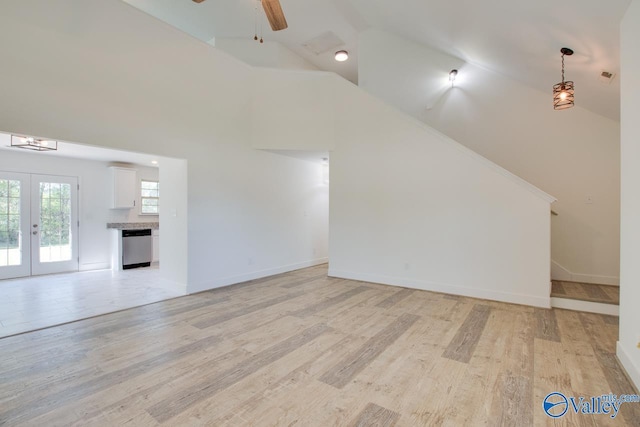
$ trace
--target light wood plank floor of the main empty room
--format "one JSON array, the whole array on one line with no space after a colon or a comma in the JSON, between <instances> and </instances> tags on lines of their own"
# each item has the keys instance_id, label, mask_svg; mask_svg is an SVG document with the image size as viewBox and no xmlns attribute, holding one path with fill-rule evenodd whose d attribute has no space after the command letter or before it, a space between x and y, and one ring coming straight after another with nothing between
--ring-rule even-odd
<instances>
[{"instance_id":1,"label":"light wood plank floor of the main empty room","mask_svg":"<svg viewBox=\"0 0 640 427\"><path fill-rule=\"evenodd\" d=\"M326 266L0 340L0 424L623 426L617 319L326 277Z\"/></svg>"}]
</instances>

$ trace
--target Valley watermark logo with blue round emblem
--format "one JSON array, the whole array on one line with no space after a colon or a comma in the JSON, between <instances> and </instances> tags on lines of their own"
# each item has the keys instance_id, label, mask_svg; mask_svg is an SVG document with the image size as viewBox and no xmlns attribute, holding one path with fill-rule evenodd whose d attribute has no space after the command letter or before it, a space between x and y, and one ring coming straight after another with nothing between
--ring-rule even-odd
<instances>
[{"instance_id":1,"label":"Valley watermark logo with blue round emblem","mask_svg":"<svg viewBox=\"0 0 640 427\"><path fill-rule=\"evenodd\" d=\"M608 415L615 418L623 403L638 403L637 394L609 393L594 397L567 397L557 391L549 393L542 401L542 409L551 418L563 417L571 411L583 415Z\"/></svg>"}]
</instances>

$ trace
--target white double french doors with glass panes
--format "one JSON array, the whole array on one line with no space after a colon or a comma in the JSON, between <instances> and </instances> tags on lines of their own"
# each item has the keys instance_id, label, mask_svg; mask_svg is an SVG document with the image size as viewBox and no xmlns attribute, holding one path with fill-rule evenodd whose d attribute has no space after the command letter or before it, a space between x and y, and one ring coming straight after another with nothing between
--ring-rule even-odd
<instances>
[{"instance_id":1,"label":"white double french doors with glass panes","mask_svg":"<svg viewBox=\"0 0 640 427\"><path fill-rule=\"evenodd\" d=\"M77 178L0 172L0 279L77 270Z\"/></svg>"}]
</instances>

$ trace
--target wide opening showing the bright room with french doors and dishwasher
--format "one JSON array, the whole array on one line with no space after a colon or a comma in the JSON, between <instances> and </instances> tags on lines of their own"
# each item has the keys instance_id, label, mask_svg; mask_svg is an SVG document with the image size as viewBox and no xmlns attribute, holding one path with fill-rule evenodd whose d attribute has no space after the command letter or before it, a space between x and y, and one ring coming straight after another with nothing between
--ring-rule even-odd
<instances>
[{"instance_id":1,"label":"wide opening showing the bright room with french doors and dishwasher","mask_svg":"<svg viewBox=\"0 0 640 427\"><path fill-rule=\"evenodd\" d=\"M9 139L0 132L0 338L186 294L186 160L65 141L35 152ZM133 209L113 209L114 163L137 171ZM143 180L166 183L161 203ZM151 267L117 269L113 222L162 223Z\"/></svg>"}]
</instances>

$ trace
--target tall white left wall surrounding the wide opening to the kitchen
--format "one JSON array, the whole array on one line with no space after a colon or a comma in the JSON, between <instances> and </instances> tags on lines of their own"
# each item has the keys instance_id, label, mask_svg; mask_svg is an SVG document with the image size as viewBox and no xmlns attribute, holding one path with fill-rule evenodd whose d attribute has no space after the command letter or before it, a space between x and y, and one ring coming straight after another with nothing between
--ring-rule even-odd
<instances>
[{"instance_id":1,"label":"tall white left wall surrounding the wide opening to the kitchen","mask_svg":"<svg viewBox=\"0 0 640 427\"><path fill-rule=\"evenodd\" d=\"M188 292L326 261L320 165L251 147L251 67L118 0L5 1L0 37L0 129L186 162L160 221Z\"/></svg>"}]
</instances>

